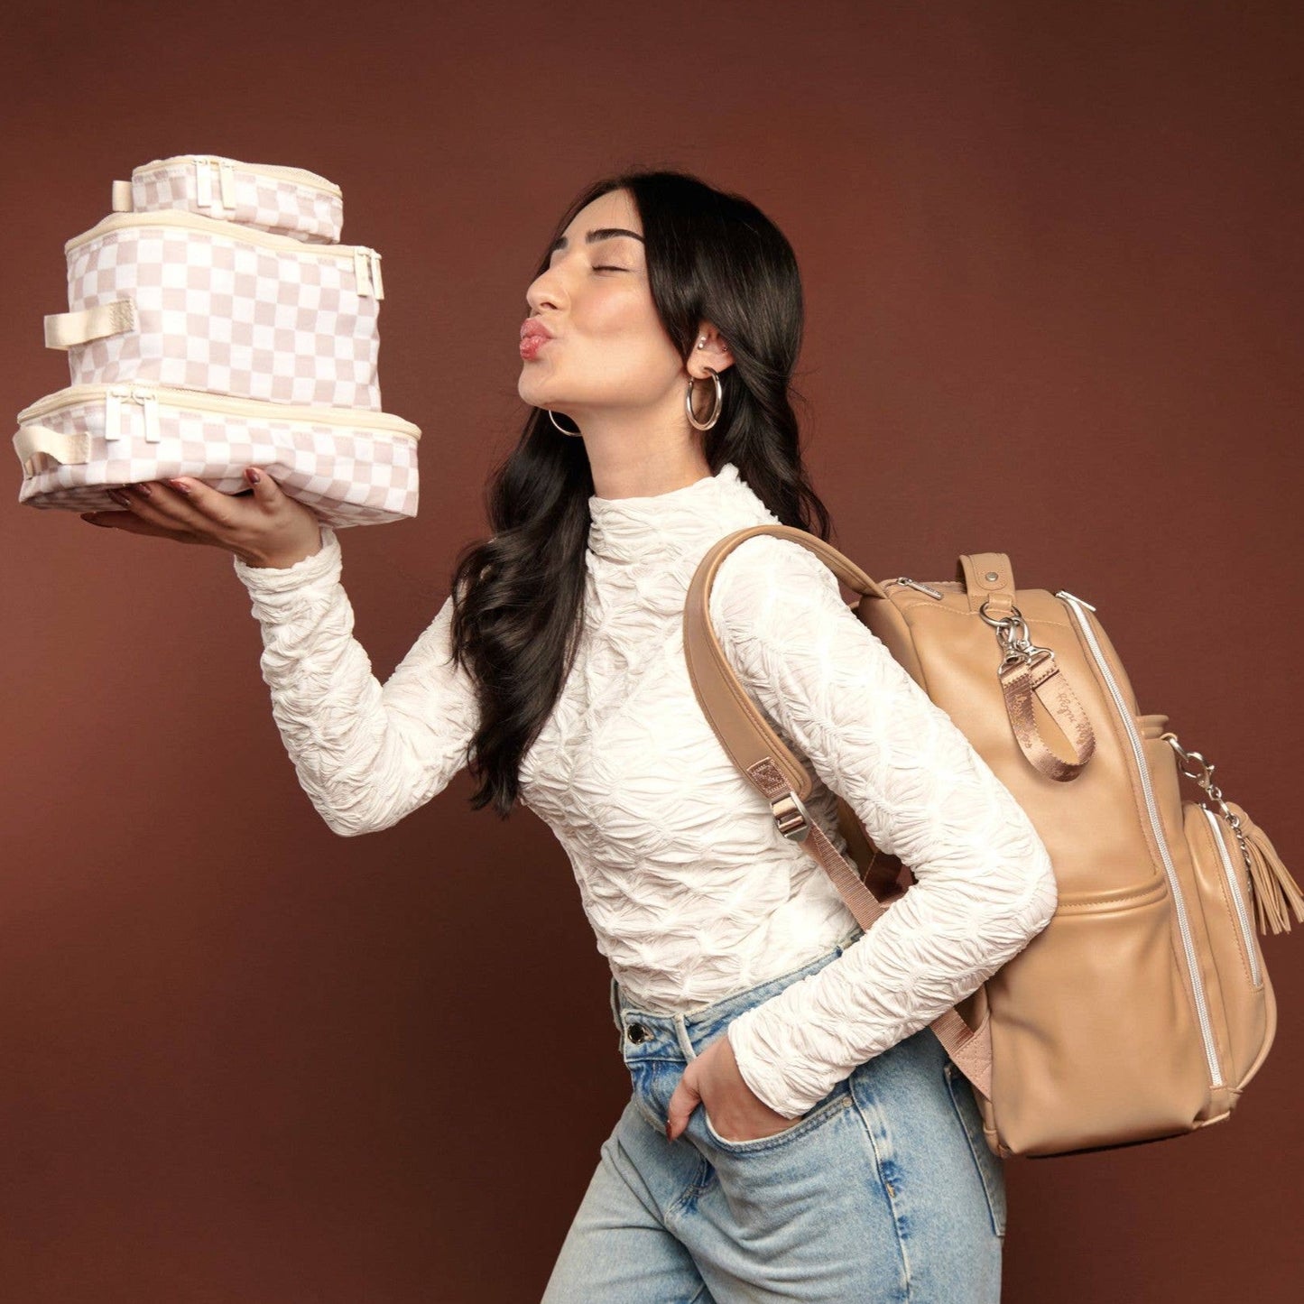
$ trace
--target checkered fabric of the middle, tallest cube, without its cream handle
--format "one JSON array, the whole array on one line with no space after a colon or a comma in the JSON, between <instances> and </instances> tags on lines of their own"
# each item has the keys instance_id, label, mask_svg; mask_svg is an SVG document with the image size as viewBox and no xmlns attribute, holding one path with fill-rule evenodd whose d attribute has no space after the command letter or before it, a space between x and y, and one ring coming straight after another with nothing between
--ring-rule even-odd
<instances>
[{"instance_id":1,"label":"checkered fabric of the middle, tallest cube, without its cream handle","mask_svg":"<svg viewBox=\"0 0 1304 1304\"><path fill-rule=\"evenodd\" d=\"M123 220L123 219L119 219ZM134 299L140 330L68 349L73 385L185 389L381 411L379 300L352 257L129 215L68 254L68 306Z\"/></svg>"}]
</instances>

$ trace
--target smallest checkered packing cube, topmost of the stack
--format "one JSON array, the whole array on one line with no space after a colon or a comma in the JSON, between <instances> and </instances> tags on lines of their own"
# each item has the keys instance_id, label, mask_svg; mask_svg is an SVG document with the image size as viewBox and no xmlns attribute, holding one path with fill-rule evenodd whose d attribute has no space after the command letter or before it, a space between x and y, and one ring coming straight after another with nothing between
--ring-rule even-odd
<instances>
[{"instance_id":1,"label":"smallest checkered packing cube, topmost of the stack","mask_svg":"<svg viewBox=\"0 0 1304 1304\"><path fill-rule=\"evenodd\" d=\"M335 244L344 197L334 181L301 167L241 163L213 154L177 154L113 183L115 213L185 209L257 231Z\"/></svg>"}]
</instances>

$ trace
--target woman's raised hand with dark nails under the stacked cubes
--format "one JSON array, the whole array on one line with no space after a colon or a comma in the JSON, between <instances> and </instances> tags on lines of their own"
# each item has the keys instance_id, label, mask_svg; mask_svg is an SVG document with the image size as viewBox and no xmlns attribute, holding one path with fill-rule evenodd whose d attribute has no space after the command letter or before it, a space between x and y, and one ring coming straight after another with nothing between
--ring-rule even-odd
<instances>
[{"instance_id":1,"label":"woman's raised hand with dark nails under the stacked cubes","mask_svg":"<svg viewBox=\"0 0 1304 1304\"><path fill-rule=\"evenodd\" d=\"M250 566L284 569L321 548L321 518L284 493L266 471L245 468L253 492L220 493L190 476L110 489L126 511L87 511L82 520L179 544L209 544Z\"/></svg>"}]
</instances>

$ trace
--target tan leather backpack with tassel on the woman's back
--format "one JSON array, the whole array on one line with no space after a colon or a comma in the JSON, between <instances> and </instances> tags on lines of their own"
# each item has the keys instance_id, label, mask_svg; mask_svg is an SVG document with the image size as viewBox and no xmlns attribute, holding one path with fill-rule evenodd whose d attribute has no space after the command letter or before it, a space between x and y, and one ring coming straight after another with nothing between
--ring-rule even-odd
<instances>
[{"instance_id":1,"label":"tan leather backpack with tassel on the woman's back","mask_svg":"<svg viewBox=\"0 0 1304 1304\"><path fill-rule=\"evenodd\" d=\"M1004 553L955 580L882 584L789 526L721 539L689 588L694 692L785 837L828 871L866 930L914 882L838 798L854 863L808 819L811 777L742 690L708 599L752 535L808 548L858 595L857 617L970 739L1030 816L1059 888L1055 917L930 1026L973 1084L990 1149L1045 1158L1183 1136L1228 1118L1277 1030L1260 934L1304 923L1304 895L1213 764L1167 716L1140 715L1095 608L1016 589ZM1184 801L1180 776L1202 801Z\"/></svg>"}]
</instances>

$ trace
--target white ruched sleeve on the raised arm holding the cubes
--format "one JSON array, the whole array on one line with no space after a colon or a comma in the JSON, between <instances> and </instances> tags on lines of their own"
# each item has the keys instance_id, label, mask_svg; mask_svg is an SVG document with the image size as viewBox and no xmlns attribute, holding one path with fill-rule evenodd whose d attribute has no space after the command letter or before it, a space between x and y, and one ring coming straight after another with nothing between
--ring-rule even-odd
<instances>
[{"instance_id":1,"label":"white ruched sleeve on the raised arm holding the cubes","mask_svg":"<svg viewBox=\"0 0 1304 1304\"><path fill-rule=\"evenodd\" d=\"M340 837L396 824L466 764L479 711L451 661L452 596L383 685L352 636L335 531L293 566L233 558L262 631L262 678L300 786Z\"/></svg>"}]
</instances>

